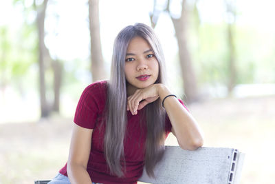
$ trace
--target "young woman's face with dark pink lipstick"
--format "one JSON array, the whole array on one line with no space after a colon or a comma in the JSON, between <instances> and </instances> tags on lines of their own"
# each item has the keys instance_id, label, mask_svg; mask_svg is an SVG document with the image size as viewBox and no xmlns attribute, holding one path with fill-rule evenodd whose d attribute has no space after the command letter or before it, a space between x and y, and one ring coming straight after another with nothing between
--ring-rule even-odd
<instances>
[{"instance_id":1,"label":"young woman's face with dark pink lipstick","mask_svg":"<svg viewBox=\"0 0 275 184\"><path fill-rule=\"evenodd\" d=\"M157 81L159 63L151 46L142 37L134 37L127 48L124 71L128 81L127 93L146 88Z\"/></svg>"}]
</instances>

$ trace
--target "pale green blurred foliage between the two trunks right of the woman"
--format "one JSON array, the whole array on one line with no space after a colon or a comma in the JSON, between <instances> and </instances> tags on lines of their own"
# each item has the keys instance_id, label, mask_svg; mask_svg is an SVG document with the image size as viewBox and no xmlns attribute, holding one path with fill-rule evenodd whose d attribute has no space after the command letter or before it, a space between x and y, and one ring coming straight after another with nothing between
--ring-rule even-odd
<instances>
[{"instance_id":1,"label":"pale green blurred foliage between the two trunks right of the woman","mask_svg":"<svg viewBox=\"0 0 275 184\"><path fill-rule=\"evenodd\" d=\"M191 52L199 83L226 83L228 51L223 25L203 24L192 34Z\"/></svg>"}]
</instances>

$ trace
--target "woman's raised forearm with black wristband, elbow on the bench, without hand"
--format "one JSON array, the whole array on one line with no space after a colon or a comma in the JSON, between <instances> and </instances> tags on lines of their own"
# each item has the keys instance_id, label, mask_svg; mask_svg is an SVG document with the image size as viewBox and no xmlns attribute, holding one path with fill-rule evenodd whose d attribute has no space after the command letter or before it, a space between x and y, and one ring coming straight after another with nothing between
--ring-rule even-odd
<instances>
[{"instance_id":1,"label":"woman's raised forearm with black wristband, elbow on the bench, without hand","mask_svg":"<svg viewBox=\"0 0 275 184\"><path fill-rule=\"evenodd\" d=\"M161 101L165 96L171 94L168 88L162 84L159 85L158 91ZM164 100L164 108L173 126L173 134L177 137L181 148L195 150L197 147L201 147L203 145L201 130L186 108L174 96L168 96Z\"/></svg>"}]
</instances>

